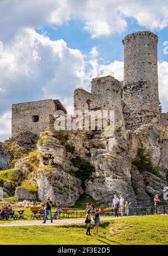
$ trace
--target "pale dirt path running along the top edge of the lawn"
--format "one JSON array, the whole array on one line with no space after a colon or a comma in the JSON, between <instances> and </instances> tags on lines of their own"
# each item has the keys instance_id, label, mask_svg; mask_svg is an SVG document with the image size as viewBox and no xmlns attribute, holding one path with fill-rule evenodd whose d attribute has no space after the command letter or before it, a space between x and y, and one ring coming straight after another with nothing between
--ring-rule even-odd
<instances>
[{"instance_id":1,"label":"pale dirt path running along the top edge of the lawn","mask_svg":"<svg viewBox=\"0 0 168 256\"><path fill-rule=\"evenodd\" d=\"M120 217L119 217L120 218ZM122 217L124 218L124 217ZM102 217L102 221L114 220L115 217ZM53 220L53 223L50 223L50 220L46 221L46 224L42 223L43 220L32 220L32 221L7 221L1 223L0 227L12 227L12 226L33 226L33 225L64 225L64 224L84 224L85 218L67 218L65 220Z\"/></svg>"}]
</instances>

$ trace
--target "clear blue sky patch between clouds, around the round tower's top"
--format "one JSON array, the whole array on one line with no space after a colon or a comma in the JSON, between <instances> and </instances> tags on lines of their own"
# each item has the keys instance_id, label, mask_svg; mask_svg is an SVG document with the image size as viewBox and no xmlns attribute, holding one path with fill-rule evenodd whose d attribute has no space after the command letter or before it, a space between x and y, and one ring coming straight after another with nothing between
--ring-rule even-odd
<instances>
[{"instance_id":1,"label":"clear blue sky patch between clouds, around the round tower's top","mask_svg":"<svg viewBox=\"0 0 168 256\"><path fill-rule=\"evenodd\" d=\"M62 26L44 26L36 31L40 34L45 33L51 40L63 39L67 42L68 47L80 49L83 54L87 54L92 47L97 46L99 49L99 57L104 59L104 61L122 61L122 39L124 36L134 31L147 30L147 27L139 26L134 18L127 18L126 20L128 27L124 32L100 38L91 38L90 34L83 30L83 22L80 20L72 20ZM163 52L163 43L168 40L168 28L166 27L162 30L152 29L151 31L157 34L159 39L158 60L168 60L168 56Z\"/></svg>"}]
</instances>

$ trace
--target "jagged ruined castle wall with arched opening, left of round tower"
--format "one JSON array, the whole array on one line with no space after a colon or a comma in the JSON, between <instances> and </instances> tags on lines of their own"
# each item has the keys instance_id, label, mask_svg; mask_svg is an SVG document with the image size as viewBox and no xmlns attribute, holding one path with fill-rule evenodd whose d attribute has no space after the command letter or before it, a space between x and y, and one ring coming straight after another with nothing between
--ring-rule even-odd
<instances>
[{"instance_id":1,"label":"jagged ruined castle wall with arched opening, left of round tower","mask_svg":"<svg viewBox=\"0 0 168 256\"><path fill-rule=\"evenodd\" d=\"M115 128L124 129L121 88L121 83L112 76L94 78L91 93L74 91L74 110L114 110Z\"/></svg>"}]
</instances>

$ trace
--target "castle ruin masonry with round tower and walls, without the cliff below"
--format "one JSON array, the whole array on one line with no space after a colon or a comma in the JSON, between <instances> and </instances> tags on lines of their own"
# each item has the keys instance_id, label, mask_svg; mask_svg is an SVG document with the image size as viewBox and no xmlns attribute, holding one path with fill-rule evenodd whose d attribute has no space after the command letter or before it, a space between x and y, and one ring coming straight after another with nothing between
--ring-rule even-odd
<instances>
[{"instance_id":1,"label":"castle ruin masonry with round tower and walls, without the cliff below","mask_svg":"<svg viewBox=\"0 0 168 256\"><path fill-rule=\"evenodd\" d=\"M124 81L111 76L94 78L91 92L74 91L74 110L114 110L115 127L134 131L141 124L153 123L167 139L168 116L161 113L158 99L157 41L150 31L125 36ZM12 134L52 129L57 109L67 113L59 100L14 104Z\"/></svg>"}]
</instances>

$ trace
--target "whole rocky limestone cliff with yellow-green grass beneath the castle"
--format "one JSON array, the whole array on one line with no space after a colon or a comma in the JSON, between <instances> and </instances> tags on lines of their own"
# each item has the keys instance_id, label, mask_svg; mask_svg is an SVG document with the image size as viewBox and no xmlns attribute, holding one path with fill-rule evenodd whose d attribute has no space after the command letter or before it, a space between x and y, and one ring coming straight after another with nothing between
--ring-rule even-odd
<instances>
[{"instance_id":1,"label":"whole rocky limestone cliff with yellow-green grass beneath the castle","mask_svg":"<svg viewBox=\"0 0 168 256\"><path fill-rule=\"evenodd\" d=\"M44 131L18 133L0 145L4 197L74 204L85 193L110 206L114 193L134 205L150 204L167 186L168 142L153 124L134 132Z\"/></svg>"}]
</instances>

